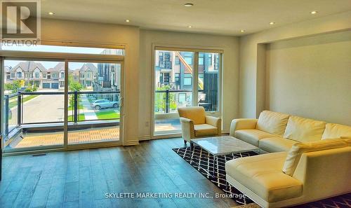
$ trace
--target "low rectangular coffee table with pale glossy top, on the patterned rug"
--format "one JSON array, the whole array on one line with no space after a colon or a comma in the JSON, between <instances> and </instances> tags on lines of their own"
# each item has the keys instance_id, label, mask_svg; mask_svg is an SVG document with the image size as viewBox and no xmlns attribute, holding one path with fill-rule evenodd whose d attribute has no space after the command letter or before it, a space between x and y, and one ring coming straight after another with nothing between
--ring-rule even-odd
<instances>
[{"instance_id":1,"label":"low rectangular coffee table with pale glossy top, on the patterned rug","mask_svg":"<svg viewBox=\"0 0 351 208\"><path fill-rule=\"evenodd\" d=\"M248 151L258 152L260 150L257 146L253 146L252 144L231 136L192 139L190 143L200 146L213 155L213 174L208 173L212 176L215 175L215 167L216 164L218 165L218 156Z\"/></svg>"}]
</instances>

